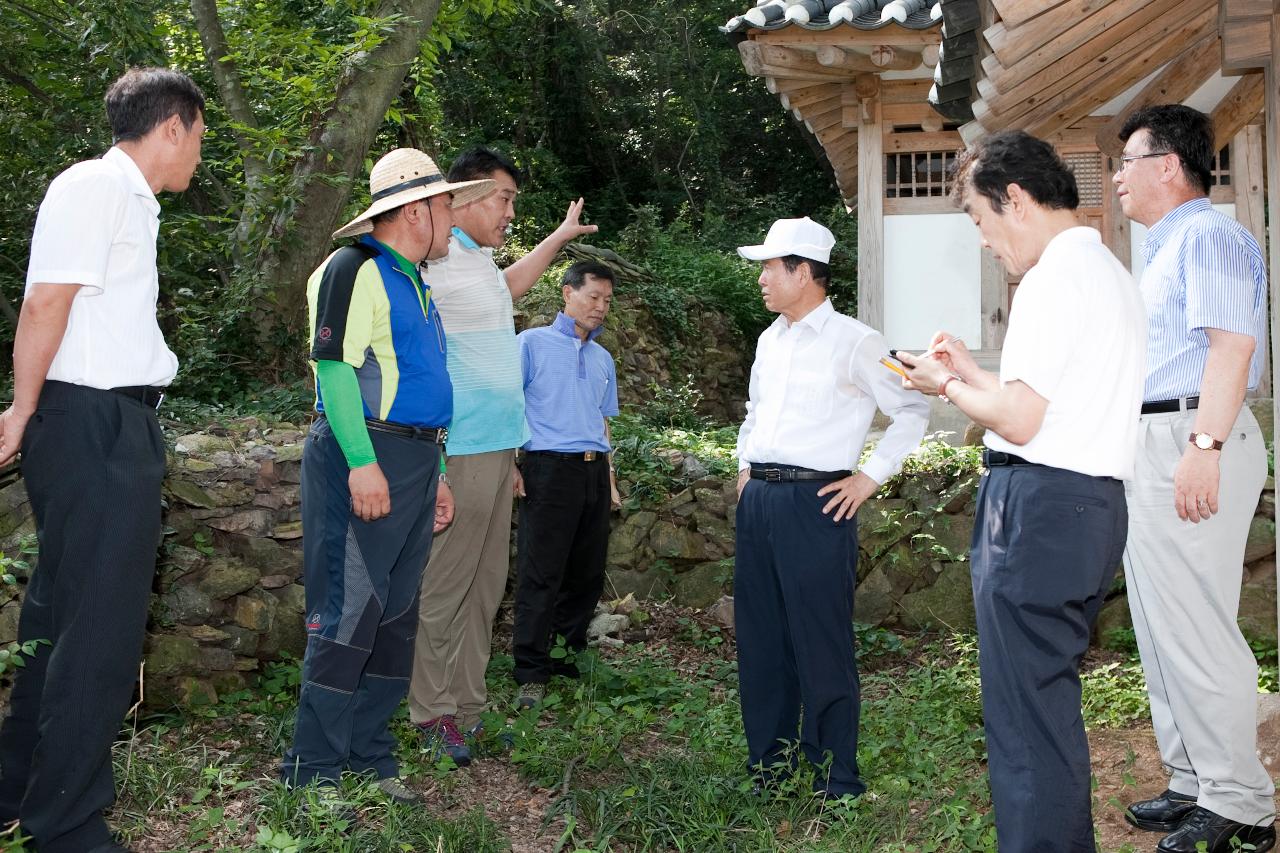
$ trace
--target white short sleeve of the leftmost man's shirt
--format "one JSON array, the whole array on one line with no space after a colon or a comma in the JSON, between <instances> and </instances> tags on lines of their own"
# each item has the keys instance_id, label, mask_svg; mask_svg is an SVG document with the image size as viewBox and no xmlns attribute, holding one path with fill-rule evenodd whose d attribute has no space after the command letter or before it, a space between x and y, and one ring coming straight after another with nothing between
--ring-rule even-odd
<instances>
[{"instance_id":1,"label":"white short sleeve of the leftmost man's shirt","mask_svg":"<svg viewBox=\"0 0 1280 853\"><path fill-rule=\"evenodd\" d=\"M79 284L84 296L101 293L128 201L128 188L102 173L55 178L36 215L27 291L45 283Z\"/></svg>"}]
</instances>

